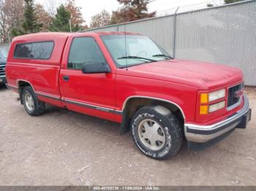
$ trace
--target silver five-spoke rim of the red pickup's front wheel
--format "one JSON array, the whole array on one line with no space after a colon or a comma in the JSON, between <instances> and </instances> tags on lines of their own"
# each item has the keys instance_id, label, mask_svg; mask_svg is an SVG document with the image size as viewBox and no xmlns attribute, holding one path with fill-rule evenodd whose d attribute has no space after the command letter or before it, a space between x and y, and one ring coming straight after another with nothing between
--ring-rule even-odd
<instances>
[{"instance_id":1,"label":"silver five-spoke rim of the red pickup's front wheel","mask_svg":"<svg viewBox=\"0 0 256 191\"><path fill-rule=\"evenodd\" d=\"M165 146L165 130L155 120L142 120L138 125L138 135L142 144L148 149L156 151Z\"/></svg>"}]
</instances>

